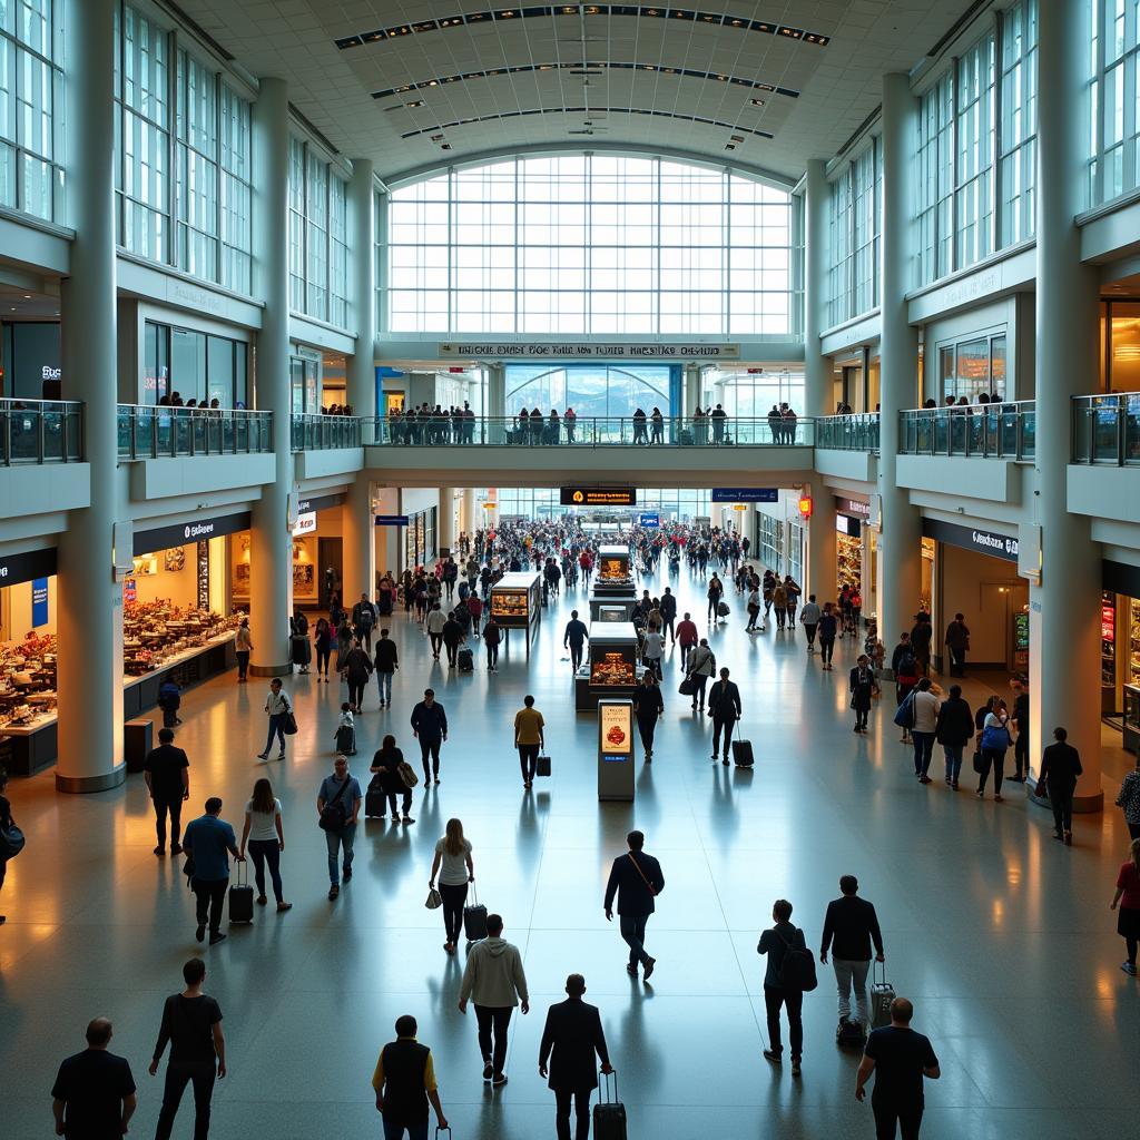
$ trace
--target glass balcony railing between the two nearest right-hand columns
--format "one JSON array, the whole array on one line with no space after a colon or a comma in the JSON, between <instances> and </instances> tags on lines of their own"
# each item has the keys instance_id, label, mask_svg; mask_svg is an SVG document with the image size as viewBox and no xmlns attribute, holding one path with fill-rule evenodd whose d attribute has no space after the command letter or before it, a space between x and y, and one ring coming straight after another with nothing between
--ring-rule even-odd
<instances>
[{"instance_id":1,"label":"glass balcony railing between the two nearest right-hand columns","mask_svg":"<svg viewBox=\"0 0 1140 1140\"><path fill-rule=\"evenodd\" d=\"M1034 400L914 408L898 414L899 455L1032 459L1036 435Z\"/></svg>"}]
</instances>

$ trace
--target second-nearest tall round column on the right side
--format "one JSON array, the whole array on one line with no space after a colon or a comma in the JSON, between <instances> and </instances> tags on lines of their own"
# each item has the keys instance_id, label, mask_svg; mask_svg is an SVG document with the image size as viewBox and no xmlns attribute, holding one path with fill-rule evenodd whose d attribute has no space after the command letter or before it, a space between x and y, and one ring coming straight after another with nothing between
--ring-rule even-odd
<instances>
[{"instance_id":1,"label":"second-nearest tall round column on the right side","mask_svg":"<svg viewBox=\"0 0 1140 1140\"><path fill-rule=\"evenodd\" d=\"M893 645L910 629L922 585L922 529L906 489L898 486L898 413L914 407L919 337L906 311L910 266L907 218L917 103L904 74L882 78L882 317L879 429L879 636Z\"/></svg>"}]
</instances>

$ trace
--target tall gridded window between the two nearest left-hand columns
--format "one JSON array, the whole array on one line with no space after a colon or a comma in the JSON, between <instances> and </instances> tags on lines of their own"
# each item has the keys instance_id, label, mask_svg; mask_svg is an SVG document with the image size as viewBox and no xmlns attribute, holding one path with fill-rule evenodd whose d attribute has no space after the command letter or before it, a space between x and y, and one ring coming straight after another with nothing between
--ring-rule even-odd
<instances>
[{"instance_id":1,"label":"tall gridded window between the two nearest left-hand columns","mask_svg":"<svg viewBox=\"0 0 1140 1140\"><path fill-rule=\"evenodd\" d=\"M129 253L249 295L250 104L130 5L116 11L116 231Z\"/></svg>"}]
</instances>

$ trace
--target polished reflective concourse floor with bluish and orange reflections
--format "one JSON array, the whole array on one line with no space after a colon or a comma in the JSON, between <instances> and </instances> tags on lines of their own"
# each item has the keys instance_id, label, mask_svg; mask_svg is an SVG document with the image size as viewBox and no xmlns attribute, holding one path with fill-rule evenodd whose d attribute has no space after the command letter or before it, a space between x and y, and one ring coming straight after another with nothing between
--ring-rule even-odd
<instances>
[{"instance_id":1,"label":"polished reflective concourse floor with bluish and orange reflections","mask_svg":"<svg viewBox=\"0 0 1140 1140\"><path fill-rule=\"evenodd\" d=\"M703 611L703 591L686 572L679 593L683 606ZM415 751L407 718L431 684L451 720L442 783L417 789L414 825L361 828L357 873L336 903L325 897L315 797L344 691L311 676L290 681L301 732L283 764L255 759L264 740L260 683L220 678L188 695L179 743L192 762L192 814L220 795L239 826L254 779L268 773L285 806L283 871L295 904L284 915L259 913L252 928L233 928L205 953L229 1061L213 1137L378 1135L369 1080L404 1012L418 1018L434 1051L456 1140L552 1137L538 1040L570 971L585 974L587 1000L601 1007L630 1137L871 1137L870 1106L854 1099L857 1057L833 1041L830 969L805 1000L803 1077L760 1056L757 931L783 896L817 946L844 872L856 873L877 904L890 980L914 1000L915 1027L942 1060L942 1080L928 1084L925 1137L1135 1134L1140 993L1119 970L1123 943L1108 910L1127 839L1110 806L1118 752L1106 774L1109 807L1080 819L1065 849L1051 839L1048 813L1016 784L1003 804L954 795L940 780L918 785L886 708L872 714L868 738L852 733L844 690L854 646L823 674L801 632L746 636L730 592L734 612L711 640L742 681L755 772L710 763L709 725L677 697L670 658L666 718L652 765L638 755L636 803L600 805L595 719L572 711L561 649L575 600L585 594L563 597L543 621L529 659L512 635L495 676L432 662L417 627L397 619L396 707L378 710L369 689L353 767L366 774L390 728ZM546 717L554 765L529 795L510 747L527 691ZM0 928L0 1131L14 1140L50 1134L56 1067L82 1048L87 1020L106 1015L113 1049L130 1058L140 1088L131 1132L149 1135L161 1077L146 1066L162 1000L199 952L181 861L152 854L140 776L112 792L65 797L49 772L14 781L9 796L27 849L0 895L9 915ZM432 848L451 815L474 845L480 898L504 915L531 987L530 1015L513 1023L510 1084L495 1092L481 1081L474 1019L456 1009L462 952L443 954L439 913L423 906ZM601 905L632 825L645 831L667 879L649 931L659 963L651 984L626 975L625 946ZM190 1108L187 1096L176 1137L190 1135Z\"/></svg>"}]
</instances>

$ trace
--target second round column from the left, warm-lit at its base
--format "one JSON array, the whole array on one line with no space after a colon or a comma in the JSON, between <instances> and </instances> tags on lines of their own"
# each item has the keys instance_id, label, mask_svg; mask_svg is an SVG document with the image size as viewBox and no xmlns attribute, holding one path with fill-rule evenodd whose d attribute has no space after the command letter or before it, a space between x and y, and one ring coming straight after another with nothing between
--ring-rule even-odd
<instances>
[{"instance_id":1,"label":"second round column from the left, warm-lit at its base","mask_svg":"<svg viewBox=\"0 0 1140 1140\"><path fill-rule=\"evenodd\" d=\"M256 399L274 414L274 481L261 489L250 528L250 669L260 676L287 673L288 618L293 597L290 494L288 383L288 90L262 79L253 105L253 226L258 251L255 288L264 302L258 334Z\"/></svg>"}]
</instances>

